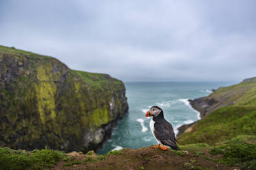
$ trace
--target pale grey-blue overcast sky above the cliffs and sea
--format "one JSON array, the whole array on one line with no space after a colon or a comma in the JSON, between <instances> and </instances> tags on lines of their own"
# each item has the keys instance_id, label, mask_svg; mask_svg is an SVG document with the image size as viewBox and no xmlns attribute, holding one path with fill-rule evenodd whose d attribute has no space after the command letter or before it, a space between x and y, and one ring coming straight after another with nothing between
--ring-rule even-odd
<instances>
[{"instance_id":1,"label":"pale grey-blue overcast sky above the cliffs and sea","mask_svg":"<svg viewBox=\"0 0 256 170\"><path fill-rule=\"evenodd\" d=\"M256 76L256 1L1 0L0 44L123 81Z\"/></svg>"}]
</instances>

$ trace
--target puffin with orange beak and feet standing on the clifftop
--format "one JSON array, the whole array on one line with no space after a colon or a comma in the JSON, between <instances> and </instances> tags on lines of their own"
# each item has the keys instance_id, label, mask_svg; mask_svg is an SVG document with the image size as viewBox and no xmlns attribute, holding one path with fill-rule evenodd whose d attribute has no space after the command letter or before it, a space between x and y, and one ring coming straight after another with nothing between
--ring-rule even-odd
<instances>
[{"instance_id":1,"label":"puffin with orange beak and feet standing on the clifftop","mask_svg":"<svg viewBox=\"0 0 256 170\"><path fill-rule=\"evenodd\" d=\"M156 138L158 145L153 145L153 148L160 148L166 151L168 148L178 150L173 127L171 123L164 119L164 112L158 106L152 106L147 111L145 117L153 117L149 123L150 130Z\"/></svg>"}]
</instances>

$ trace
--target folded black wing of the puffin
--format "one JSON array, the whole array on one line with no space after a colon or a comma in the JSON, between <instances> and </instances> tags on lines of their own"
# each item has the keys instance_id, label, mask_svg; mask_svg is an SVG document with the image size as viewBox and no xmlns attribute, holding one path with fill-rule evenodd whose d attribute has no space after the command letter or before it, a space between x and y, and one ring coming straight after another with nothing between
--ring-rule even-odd
<instances>
[{"instance_id":1,"label":"folded black wing of the puffin","mask_svg":"<svg viewBox=\"0 0 256 170\"><path fill-rule=\"evenodd\" d=\"M175 134L173 132L173 127L168 121L164 120L161 122L156 122L154 124L154 127L154 134L163 145L168 145L172 149L178 149L178 146L176 145Z\"/></svg>"}]
</instances>

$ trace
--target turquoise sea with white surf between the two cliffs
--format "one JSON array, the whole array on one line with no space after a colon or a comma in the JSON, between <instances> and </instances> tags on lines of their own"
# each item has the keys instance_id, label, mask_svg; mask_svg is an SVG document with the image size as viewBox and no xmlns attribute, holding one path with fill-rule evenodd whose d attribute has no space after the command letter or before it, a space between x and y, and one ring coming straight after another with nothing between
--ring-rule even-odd
<instances>
[{"instance_id":1,"label":"turquoise sea with white surf between the two cliffs","mask_svg":"<svg viewBox=\"0 0 256 170\"><path fill-rule=\"evenodd\" d=\"M146 147L156 144L149 129L150 119L145 113L151 106L159 106L164 117L175 130L184 123L192 123L200 119L199 113L187 99L203 97L211 93L211 89L228 86L231 82L127 82L127 99L129 112L118 121L112 136L98 151L106 154L112 149Z\"/></svg>"}]
</instances>

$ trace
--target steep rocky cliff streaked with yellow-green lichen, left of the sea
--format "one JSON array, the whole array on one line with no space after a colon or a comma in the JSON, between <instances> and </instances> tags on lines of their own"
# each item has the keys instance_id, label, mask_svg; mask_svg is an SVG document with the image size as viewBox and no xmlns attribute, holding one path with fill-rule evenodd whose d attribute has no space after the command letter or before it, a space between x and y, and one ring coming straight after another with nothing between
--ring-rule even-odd
<instances>
[{"instance_id":1,"label":"steep rocky cliff streaked with yellow-green lichen, left of the sea","mask_svg":"<svg viewBox=\"0 0 256 170\"><path fill-rule=\"evenodd\" d=\"M1 147L96 149L127 110L120 80L0 46Z\"/></svg>"}]
</instances>

